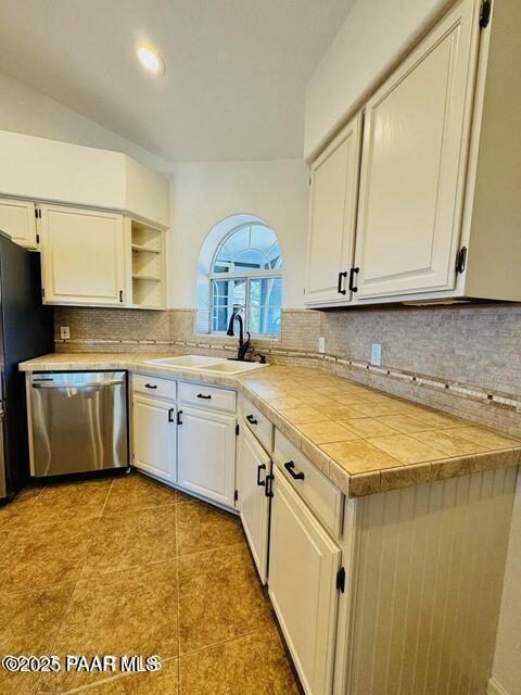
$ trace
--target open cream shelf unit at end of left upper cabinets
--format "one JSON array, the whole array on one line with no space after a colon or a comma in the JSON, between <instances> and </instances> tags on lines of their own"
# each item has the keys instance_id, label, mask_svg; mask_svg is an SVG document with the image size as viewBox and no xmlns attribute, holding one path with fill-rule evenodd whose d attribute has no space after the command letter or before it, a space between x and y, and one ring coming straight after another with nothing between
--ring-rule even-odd
<instances>
[{"instance_id":1,"label":"open cream shelf unit at end of left upper cabinets","mask_svg":"<svg viewBox=\"0 0 521 695\"><path fill-rule=\"evenodd\" d=\"M129 219L132 306L164 308L164 235L162 229Z\"/></svg>"}]
</instances>

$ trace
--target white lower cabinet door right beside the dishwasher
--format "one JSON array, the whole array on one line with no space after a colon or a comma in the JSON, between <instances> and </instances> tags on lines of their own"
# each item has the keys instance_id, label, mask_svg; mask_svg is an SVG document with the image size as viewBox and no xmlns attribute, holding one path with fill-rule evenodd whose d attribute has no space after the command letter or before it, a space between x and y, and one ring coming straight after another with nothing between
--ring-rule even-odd
<instances>
[{"instance_id":1,"label":"white lower cabinet door right beside the dishwasher","mask_svg":"<svg viewBox=\"0 0 521 695\"><path fill-rule=\"evenodd\" d=\"M134 465L152 476L176 482L176 406L137 395L132 415Z\"/></svg>"}]
</instances>

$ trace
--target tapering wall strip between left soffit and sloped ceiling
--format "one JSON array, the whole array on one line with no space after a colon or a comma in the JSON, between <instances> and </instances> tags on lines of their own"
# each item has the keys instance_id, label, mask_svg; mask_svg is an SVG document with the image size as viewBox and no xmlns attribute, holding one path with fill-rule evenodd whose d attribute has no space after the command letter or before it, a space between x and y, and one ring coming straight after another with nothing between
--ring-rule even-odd
<instances>
[{"instance_id":1,"label":"tapering wall strip between left soffit and sloped ceiling","mask_svg":"<svg viewBox=\"0 0 521 695\"><path fill-rule=\"evenodd\" d=\"M124 152L141 164L167 173L165 160L122 138L41 91L0 72L0 130Z\"/></svg>"}]
</instances>

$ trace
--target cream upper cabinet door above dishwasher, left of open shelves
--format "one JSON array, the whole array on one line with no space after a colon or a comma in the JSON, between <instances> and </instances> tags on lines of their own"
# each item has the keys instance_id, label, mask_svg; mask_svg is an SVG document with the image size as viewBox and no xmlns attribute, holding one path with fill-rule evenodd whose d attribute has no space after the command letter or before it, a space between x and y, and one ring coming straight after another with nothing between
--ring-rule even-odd
<instances>
[{"instance_id":1,"label":"cream upper cabinet door above dishwasher, left of open shelves","mask_svg":"<svg viewBox=\"0 0 521 695\"><path fill-rule=\"evenodd\" d=\"M41 262L45 302L122 305L123 215L43 205Z\"/></svg>"}]
</instances>

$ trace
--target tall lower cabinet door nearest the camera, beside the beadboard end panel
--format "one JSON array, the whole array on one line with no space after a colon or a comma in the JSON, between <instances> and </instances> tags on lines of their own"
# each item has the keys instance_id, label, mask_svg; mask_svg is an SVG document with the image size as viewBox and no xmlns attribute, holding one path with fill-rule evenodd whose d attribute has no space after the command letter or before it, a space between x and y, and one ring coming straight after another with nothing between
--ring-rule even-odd
<instances>
[{"instance_id":1,"label":"tall lower cabinet door nearest the camera, beside the beadboard end panel","mask_svg":"<svg viewBox=\"0 0 521 695\"><path fill-rule=\"evenodd\" d=\"M268 587L307 695L329 695L341 551L275 467Z\"/></svg>"}]
</instances>

